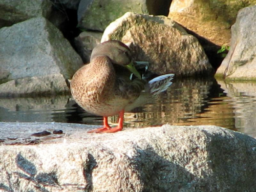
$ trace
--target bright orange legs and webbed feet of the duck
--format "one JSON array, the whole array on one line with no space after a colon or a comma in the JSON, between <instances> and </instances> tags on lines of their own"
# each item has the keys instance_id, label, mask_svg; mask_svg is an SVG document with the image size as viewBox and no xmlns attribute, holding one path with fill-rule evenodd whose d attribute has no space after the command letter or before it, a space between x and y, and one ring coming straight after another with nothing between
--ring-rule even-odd
<instances>
[{"instance_id":1,"label":"bright orange legs and webbed feet of the duck","mask_svg":"<svg viewBox=\"0 0 256 192\"><path fill-rule=\"evenodd\" d=\"M117 127L111 127L108 123L108 117L103 117L103 127L89 131L88 133L115 133L123 129L124 110L119 112L119 120Z\"/></svg>"}]
</instances>

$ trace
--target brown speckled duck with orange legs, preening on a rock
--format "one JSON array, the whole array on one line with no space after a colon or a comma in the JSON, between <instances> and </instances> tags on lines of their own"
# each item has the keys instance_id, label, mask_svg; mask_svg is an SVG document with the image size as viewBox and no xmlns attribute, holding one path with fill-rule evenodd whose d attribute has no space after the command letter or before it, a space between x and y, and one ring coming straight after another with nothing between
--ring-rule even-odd
<instances>
[{"instance_id":1,"label":"brown speckled duck with orange legs, preening on a rock","mask_svg":"<svg viewBox=\"0 0 256 192\"><path fill-rule=\"evenodd\" d=\"M145 93L165 91L172 84L174 74L148 80L138 68L146 71L148 66L145 62L134 62L130 48L123 42L109 40L97 45L90 63L76 71L70 83L73 99L83 110L103 116L103 126L88 133L121 131L124 112L131 110L136 100L141 100ZM119 115L118 125L111 127L108 117L114 115Z\"/></svg>"}]
</instances>

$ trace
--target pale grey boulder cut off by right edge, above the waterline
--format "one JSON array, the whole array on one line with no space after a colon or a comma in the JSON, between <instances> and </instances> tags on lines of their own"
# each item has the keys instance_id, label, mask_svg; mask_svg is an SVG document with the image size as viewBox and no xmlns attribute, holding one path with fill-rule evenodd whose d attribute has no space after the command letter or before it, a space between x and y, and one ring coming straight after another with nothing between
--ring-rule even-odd
<instances>
[{"instance_id":1,"label":"pale grey boulder cut off by right edge, above the waterline","mask_svg":"<svg viewBox=\"0 0 256 192\"><path fill-rule=\"evenodd\" d=\"M216 72L226 79L256 80L256 6L239 11L232 26L230 50ZM253 25L252 25L253 24Z\"/></svg>"}]
</instances>

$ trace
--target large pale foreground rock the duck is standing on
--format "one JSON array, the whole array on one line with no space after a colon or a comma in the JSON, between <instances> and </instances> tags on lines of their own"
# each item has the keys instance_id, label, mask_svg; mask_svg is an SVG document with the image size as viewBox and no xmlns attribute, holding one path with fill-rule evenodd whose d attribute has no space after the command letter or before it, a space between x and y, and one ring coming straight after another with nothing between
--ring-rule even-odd
<instances>
[{"instance_id":1,"label":"large pale foreground rock the duck is standing on","mask_svg":"<svg viewBox=\"0 0 256 192\"><path fill-rule=\"evenodd\" d=\"M87 134L88 127L0 123L1 189L255 190L256 140L247 135L206 125L163 125L115 134ZM52 134L55 129L63 134ZM33 142L31 134L38 131L51 134Z\"/></svg>"}]
</instances>

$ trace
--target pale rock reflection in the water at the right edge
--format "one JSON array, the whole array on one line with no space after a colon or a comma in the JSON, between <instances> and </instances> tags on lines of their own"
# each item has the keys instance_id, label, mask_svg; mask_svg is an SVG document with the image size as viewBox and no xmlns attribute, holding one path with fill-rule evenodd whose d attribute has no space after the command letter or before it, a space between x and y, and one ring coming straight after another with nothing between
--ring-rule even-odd
<instances>
[{"instance_id":1,"label":"pale rock reflection in the water at the right edge","mask_svg":"<svg viewBox=\"0 0 256 192\"><path fill-rule=\"evenodd\" d=\"M232 100L234 122L239 131L256 136L256 82L224 82L221 88Z\"/></svg>"}]
</instances>

